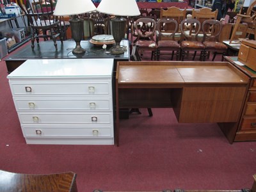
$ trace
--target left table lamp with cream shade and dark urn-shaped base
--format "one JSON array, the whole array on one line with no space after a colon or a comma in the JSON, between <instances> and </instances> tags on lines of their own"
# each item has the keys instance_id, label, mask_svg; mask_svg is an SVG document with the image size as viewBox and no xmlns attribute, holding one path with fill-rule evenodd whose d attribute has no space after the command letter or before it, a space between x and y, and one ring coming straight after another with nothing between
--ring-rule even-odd
<instances>
[{"instance_id":1,"label":"left table lamp with cream shade and dark urn-shaped base","mask_svg":"<svg viewBox=\"0 0 256 192\"><path fill-rule=\"evenodd\" d=\"M78 14L92 12L96 10L95 5L91 0L58 0L54 15L56 16L70 16L72 15L72 19L70 22L70 29L72 38L76 42L76 48L73 49L73 54L81 54L85 52L80 45L81 40L83 39L83 19L78 17Z\"/></svg>"}]
</instances>

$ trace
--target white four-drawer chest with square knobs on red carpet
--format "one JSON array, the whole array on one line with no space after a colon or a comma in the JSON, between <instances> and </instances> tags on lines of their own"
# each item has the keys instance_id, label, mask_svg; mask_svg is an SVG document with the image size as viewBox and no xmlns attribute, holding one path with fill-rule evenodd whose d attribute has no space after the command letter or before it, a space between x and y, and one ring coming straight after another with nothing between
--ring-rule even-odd
<instances>
[{"instance_id":1,"label":"white four-drawer chest with square knobs on red carpet","mask_svg":"<svg viewBox=\"0 0 256 192\"><path fill-rule=\"evenodd\" d=\"M7 77L28 144L113 145L113 59L28 60Z\"/></svg>"}]
</instances>

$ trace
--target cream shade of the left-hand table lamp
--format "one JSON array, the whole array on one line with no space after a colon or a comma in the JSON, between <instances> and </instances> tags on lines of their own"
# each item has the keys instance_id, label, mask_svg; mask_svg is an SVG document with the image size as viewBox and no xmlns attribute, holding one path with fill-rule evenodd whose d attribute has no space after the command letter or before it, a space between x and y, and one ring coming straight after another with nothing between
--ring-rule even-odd
<instances>
[{"instance_id":1,"label":"cream shade of the left-hand table lamp","mask_svg":"<svg viewBox=\"0 0 256 192\"><path fill-rule=\"evenodd\" d=\"M54 15L78 15L96 10L91 0L58 0Z\"/></svg>"}]
</instances>

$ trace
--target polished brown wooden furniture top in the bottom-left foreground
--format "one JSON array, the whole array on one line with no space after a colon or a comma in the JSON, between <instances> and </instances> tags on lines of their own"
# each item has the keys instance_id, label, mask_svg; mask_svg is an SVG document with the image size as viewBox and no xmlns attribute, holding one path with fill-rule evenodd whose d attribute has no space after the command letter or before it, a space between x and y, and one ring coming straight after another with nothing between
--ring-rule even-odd
<instances>
[{"instance_id":1,"label":"polished brown wooden furniture top in the bottom-left foreground","mask_svg":"<svg viewBox=\"0 0 256 192\"><path fill-rule=\"evenodd\" d=\"M0 170L0 191L63 191L77 192L76 173L33 175Z\"/></svg>"}]
</instances>

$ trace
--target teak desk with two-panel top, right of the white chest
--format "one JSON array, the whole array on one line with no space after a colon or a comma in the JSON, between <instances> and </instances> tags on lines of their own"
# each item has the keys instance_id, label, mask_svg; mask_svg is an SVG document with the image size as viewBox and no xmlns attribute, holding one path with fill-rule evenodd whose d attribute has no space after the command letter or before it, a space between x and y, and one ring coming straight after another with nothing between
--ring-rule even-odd
<instances>
[{"instance_id":1,"label":"teak desk with two-panel top, right of the white chest","mask_svg":"<svg viewBox=\"0 0 256 192\"><path fill-rule=\"evenodd\" d=\"M119 61L116 145L121 108L173 108L179 123L218 123L232 143L248 82L228 62Z\"/></svg>"}]
</instances>

